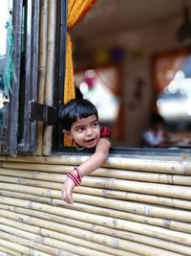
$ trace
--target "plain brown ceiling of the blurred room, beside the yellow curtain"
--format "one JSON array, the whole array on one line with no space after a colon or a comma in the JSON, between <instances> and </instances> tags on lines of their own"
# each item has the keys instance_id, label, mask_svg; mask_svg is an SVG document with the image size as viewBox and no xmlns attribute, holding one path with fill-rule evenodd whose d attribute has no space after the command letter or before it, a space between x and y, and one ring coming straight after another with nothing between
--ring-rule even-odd
<instances>
[{"instance_id":1,"label":"plain brown ceiling of the blurred room, beside the yellow curtain","mask_svg":"<svg viewBox=\"0 0 191 256\"><path fill-rule=\"evenodd\" d=\"M97 0L72 35L81 39L116 35L182 18L185 4L191 13L191 0Z\"/></svg>"}]
</instances>

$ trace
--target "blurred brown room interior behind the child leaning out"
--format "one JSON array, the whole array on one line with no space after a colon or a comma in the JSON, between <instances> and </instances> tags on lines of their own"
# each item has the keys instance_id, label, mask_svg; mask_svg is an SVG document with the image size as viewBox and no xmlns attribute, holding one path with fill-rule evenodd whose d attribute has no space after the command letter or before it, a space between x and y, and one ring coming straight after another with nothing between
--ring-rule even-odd
<instances>
[{"instance_id":1,"label":"blurred brown room interior behind the child leaning out","mask_svg":"<svg viewBox=\"0 0 191 256\"><path fill-rule=\"evenodd\" d=\"M191 145L190 15L190 0L98 0L71 31L75 85L115 146L141 147L153 112Z\"/></svg>"}]
</instances>

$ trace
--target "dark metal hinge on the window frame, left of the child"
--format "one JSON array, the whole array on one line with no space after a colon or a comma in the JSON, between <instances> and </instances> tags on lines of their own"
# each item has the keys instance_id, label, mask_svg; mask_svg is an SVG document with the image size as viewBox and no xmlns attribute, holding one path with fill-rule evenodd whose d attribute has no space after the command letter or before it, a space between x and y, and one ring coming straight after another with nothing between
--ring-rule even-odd
<instances>
[{"instance_id":1,"label":"dark metal hinge on the window frame, left of the child","mask_svg":"<svg viewBox=\"0 0 191 256\"><path fill-rule=\"evenodd\" d=\"M42 121L51 126L55 123L55 116L55 107L31 102L30 121Z\"/></svg>"}]
</instances>

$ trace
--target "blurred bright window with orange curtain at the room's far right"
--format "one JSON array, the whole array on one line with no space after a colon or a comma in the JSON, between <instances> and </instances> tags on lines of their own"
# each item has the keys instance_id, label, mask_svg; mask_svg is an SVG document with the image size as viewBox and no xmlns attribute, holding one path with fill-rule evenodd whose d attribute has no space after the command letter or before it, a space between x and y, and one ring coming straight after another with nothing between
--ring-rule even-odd
<instances>
[{"instance_id":1,"label":"blurred bright window with orange curtain at the room's far right","mask_svg":"<svg viewBox=\"0 0 191 256\"><path fill-rule=\"evenodd\" d=\"M191 146L191 53L172 53L155 60L157 109L180 147Z\"/></svg>"}]
</instances>

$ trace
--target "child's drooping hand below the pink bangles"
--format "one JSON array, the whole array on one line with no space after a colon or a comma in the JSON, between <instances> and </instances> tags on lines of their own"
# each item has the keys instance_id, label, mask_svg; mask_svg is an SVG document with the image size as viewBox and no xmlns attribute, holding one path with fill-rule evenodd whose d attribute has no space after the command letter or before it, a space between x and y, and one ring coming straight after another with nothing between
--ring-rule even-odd
<instances>
[{"instance_id":1,"label":"child's drooping hand below the pink bangles","mask_svg":"<svg viewBox=\"0 0 191 256\"><path fill-rule=\"evenodd\" d=\"M74 182L71 178L67 177L61 189L62 198L64 201L68 203L74 202L73 190L74 190Z\"/></svg>"}]
</instances>

